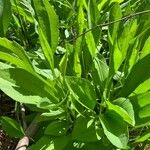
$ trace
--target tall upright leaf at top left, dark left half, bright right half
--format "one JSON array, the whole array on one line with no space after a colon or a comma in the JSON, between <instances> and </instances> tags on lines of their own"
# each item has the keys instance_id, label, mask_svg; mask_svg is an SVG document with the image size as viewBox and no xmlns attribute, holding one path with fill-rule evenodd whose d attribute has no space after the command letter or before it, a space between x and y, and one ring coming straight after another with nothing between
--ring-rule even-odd
<instances>
[{"instance_id":1,"label":"tall upright leaf at top left, dark left half, bright right half","mask_svg":"<svg viewBox=\"0 0 150 150\"><path fill-rule=\"evenodd\" d=\"M55 10L48 0L32 0L32 3L39 27L47 42L50 43L51 50L54 53L56 51L59 36L58 17Z\"/></svg>"}]
</instances>

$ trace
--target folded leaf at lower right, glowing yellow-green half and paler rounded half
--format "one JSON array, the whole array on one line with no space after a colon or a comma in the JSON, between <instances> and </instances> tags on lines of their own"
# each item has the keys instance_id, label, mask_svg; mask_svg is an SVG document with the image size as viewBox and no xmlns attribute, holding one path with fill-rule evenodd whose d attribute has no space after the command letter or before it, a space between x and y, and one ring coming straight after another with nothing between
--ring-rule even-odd
<instances>
[{"instance_id":1,"label":"folded leaf at lower right, glowing yellow-green half and paler rounded half","mask_svg":"<svg viewBox=\"0 0 150 150\"><path fill-rule=\"evenodd\" d=\"M119 98L115 100L115 105L110 102L106 102L106 104L108 106L108 110L116 112L118 115L120 115L120 117L122 117L124 121L134 126L134 111L132 104L129 102L129 100Z\"/></svg>"}]
</instances>

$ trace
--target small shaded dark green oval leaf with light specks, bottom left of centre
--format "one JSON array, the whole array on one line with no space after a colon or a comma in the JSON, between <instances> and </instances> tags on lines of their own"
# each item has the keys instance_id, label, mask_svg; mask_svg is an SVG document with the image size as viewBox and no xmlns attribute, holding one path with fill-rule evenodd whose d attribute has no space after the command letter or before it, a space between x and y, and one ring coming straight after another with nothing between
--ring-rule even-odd
<instances>
[{"instance_id":1,"label":"small shaded dark green oval leaf with light specks, bottom left of centre","mask_svg":"<svg viewBox=\"0 0 150 150\"><path fill-rule=\"evenodd\" d=\"M45 135L62 136L65 135L69 129L69 124L66 121L53 121L44 131Z\"/></svg>"}]
</instances>

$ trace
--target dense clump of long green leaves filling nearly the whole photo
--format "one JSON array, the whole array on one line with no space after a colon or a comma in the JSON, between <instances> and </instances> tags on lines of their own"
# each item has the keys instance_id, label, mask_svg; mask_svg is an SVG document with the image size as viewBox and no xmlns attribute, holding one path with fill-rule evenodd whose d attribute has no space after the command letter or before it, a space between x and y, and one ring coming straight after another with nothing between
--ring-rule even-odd
<instances>
[{"instance_id":1,"label":"dense clump of long green leaves filling nearly the whole photo","mask_svg":"<svg viewBox=\"0 0 150 150\"><path fill-rule=\"evenodd\" d=\"M12 0L12 14L2 11L18 26L14 31L0 19L9 26L0 38L0 89L28 108L29 123L34 119L40 127L30 150L134 149L148 143L149 132L143 132L150 125L150 14L121 20L150 9L147 3ZM9 37L14 32L16 42ZM1 119L12 135L16 123L9 129L11 120ZM132 137L138 129L143 135Z\"/></svg>"}]
</instances>

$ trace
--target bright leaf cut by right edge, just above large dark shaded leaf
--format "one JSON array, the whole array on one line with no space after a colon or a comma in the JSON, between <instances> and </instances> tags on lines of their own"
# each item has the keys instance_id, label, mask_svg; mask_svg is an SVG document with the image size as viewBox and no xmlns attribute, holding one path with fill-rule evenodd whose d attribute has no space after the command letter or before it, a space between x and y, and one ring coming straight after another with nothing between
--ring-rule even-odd
<instances>
[{"instance_id":1,"label":"bright leaf cut by right edge, just above large dark shaded leaf","mask_svg":"<svg viewBox=\"0 0 150 150\"><path fill-rule=\"evenodd\" d=\"M144 47L141 51L140 58L142 59L146 55L150 54L150 37L146 40Z\"/></svg>"}]
</instances>

